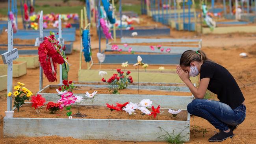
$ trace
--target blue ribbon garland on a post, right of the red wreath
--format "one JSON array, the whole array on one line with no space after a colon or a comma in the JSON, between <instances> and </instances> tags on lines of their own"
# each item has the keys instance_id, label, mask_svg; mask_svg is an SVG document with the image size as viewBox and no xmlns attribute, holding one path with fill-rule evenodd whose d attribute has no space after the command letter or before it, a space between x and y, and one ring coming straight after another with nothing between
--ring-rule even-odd
<instances>
[{"instance_id":1,"label":"blue ribbon garland on a post, right of the red wreath","mask_svg":"<svg viewBox=\"0 0 256 144\"><path fill-rule=\"evenodd\" d=\"M91 38L89 30L83 30L83 56L86 62L91 61L91 53L89 48L91 48Z\"/></svg>"}]
</instances>

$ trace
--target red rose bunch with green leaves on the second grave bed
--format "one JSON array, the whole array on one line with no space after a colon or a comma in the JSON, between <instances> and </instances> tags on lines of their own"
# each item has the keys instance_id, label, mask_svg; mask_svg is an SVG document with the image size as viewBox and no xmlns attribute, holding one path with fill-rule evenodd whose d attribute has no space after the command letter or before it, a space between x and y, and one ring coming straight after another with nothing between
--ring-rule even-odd
<instances>
[{"instance_id":1,"label":"red rose bunch with green leaves on the second grave bed","mask_svg":"<svg viewBox=\"0 0 256 144\"><path fill-rule=\"evenodd\" d=\"M119 74L113 74L111 78L106 81L106 79L102 78L101 81L108 82L109 84L109 91L113 90L113 94L120 94L118 92L119 89L126 89L128 86L128 83L133 83L132 76L129 76L126 78L131 72L127 71L126 75L124 75L124 72L121 71L121 69L117 69L117 72Z\"/></svg>"}]
</instances>

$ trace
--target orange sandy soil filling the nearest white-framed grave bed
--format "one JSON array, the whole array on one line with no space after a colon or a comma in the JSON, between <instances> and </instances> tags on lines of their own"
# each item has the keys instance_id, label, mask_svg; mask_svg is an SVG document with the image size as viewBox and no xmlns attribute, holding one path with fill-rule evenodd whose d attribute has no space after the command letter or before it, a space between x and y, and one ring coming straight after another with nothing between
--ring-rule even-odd
<instances>
[{"instance_id":1,"label":"orange sandy soil filling the nearest white-framed grave bed","mask_svg":"<svg viewBox=\"0 0 256 144\"><path fill-rule=\"evenodd\" d=\"M157 105L155 105L157 107ZM72 114L76 114L77 111L76 105L71 107ZM151 108L148 108L149 111L152 111ZM96 118L96 119L128 119L128 120L187 120L187 111L180 112L176 117L168 113L168 109L160 109L160 114L158 114L158 118L154 118L153 116L144 115L141 116L141 111L136 110L135 113L129 115L125 111L112 111L110 114L110 109L108 107L103 106L95 106L94 109L92 106L79 106L79 111L86 116L84 118ZM67 118L67 111L63 109L59 110L55 114L50 114L46 107L41 108L40 113L37 116L35 109L31 108L31 104L26 104L20 107L19 113L15 111L13 117L18 118ZM110 116L109 116L110 114ZM109 116L109 117L108 117ZM74 118L81 118L75 117Z\"/></svg>"}]
</instances>

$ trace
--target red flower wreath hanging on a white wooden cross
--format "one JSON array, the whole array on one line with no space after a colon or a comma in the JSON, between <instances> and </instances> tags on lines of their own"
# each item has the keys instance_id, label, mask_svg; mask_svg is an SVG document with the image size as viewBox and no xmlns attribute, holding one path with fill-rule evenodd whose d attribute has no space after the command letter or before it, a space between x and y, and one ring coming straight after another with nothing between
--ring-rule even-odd
<instances>
[{"instance_id":1,"label":"red flower wreath hanging on a white wooden cross","mask_svg":"<svg viewBox=\"0 0 256 144\"><path fill-rule=\"evenodd\" d=\"M63 64L65 57L63 57L61 46L56 40L55 35L50 33L49 37L45 37L45 40L40 44L38 48L39 62L43 68L43 72L50 82L57 81L57 63ZM52 57L52 63L54 66L54 72L52 71L52 65L50 62L50 57Z\"/></svg>"}]
</instances>

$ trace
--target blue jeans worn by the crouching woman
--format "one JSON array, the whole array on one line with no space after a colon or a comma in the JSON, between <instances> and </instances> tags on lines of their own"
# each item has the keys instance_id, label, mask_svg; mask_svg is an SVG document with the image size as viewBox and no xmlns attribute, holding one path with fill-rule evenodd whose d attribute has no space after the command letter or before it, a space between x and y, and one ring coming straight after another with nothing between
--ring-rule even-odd
<instances>
[{"instance_id":1,"label":"blue jeans worn by the crouching woman","mask_svg":"<svg viewBox=\"0 0 256 144\"><path fill-rule=\"evenodd\" d=\"M208 120L216 129L226 131L228 125L237 126L245 120L246 107L241 104L236 109L231 109L222 102L194 99L187 105L187 111Z\"/></svg>"}]
</instances>

